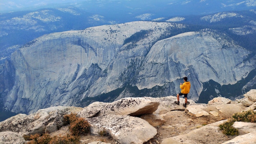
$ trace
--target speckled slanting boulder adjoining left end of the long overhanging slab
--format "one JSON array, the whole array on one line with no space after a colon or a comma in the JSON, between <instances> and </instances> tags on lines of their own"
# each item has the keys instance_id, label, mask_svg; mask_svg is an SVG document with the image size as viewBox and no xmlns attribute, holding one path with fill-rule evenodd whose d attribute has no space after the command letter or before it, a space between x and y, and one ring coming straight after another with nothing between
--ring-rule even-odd
<instances>
[{"instance_id":1,"label":"speckled slanting boulder adjoining left end of the long overhanging slab","mask_svg":"<svg viewBox=\"0 0 256 144\"><path fill-rule=\"evenodd\" d=\"M83 118L90 118L97 115L108 103L105 102L94 102L84 107L83 110L77 113L76 116Z\"/></svg>"}]
</instances>

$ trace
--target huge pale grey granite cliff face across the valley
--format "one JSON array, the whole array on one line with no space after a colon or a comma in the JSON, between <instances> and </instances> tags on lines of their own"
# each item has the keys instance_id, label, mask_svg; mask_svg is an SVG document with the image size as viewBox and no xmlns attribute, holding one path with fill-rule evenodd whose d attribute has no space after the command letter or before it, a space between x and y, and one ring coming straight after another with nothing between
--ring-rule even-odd
<instances>
[{"instance_id":1,"label":"huge pale grey granite cliff face across the valley","mask_svg":"<svg viewBox=\"0 0 256 144\"><path fill-rule=\"evenodd\" d=\"M15 82L3 105L32 113L82 106L115 90L103 99L138 97L132 88L169 96L184 76L192 83L189 99L198 100L203 82L235 84L255 69L251 52L225 35L205 29L172 36L185 27L136 21L43 35L13 53Z\"/></svg>"}]
</instances>

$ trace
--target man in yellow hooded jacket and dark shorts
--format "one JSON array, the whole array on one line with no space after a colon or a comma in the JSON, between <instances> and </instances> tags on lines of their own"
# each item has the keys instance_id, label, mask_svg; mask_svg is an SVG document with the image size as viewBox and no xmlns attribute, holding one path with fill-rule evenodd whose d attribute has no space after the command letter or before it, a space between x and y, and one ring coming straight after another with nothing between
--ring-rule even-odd
<instances>
[{"instance_id":1,"label":"man in yellow hooded jacket and dark shorts","mask_svg":"<svg viewBox=\"0 0 256 144\"><path fill-rule=\"evenodd\" d=\"M187 107L187 94L190 90L190 82L187 81L187 77L183 77L184 83L180 84L181 92L177 94L177 101L175 103L177 105L180 105L180 96L184 95L185 97L185 103L183 104L184 107Z\"/></svg>"}]
</instances>

